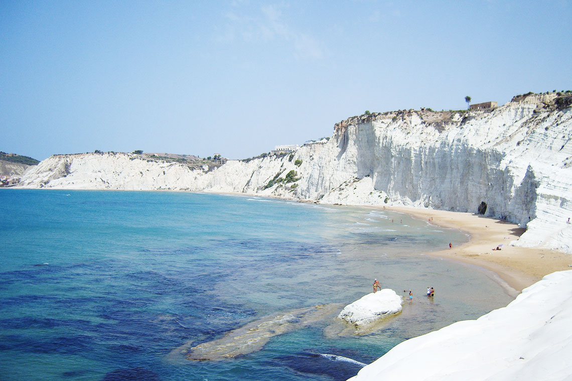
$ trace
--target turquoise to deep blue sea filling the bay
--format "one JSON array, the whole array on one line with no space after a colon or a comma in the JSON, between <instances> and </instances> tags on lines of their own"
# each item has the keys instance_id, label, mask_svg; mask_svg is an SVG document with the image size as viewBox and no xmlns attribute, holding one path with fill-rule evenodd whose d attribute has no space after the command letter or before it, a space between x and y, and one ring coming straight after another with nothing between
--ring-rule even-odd
<instances>
[{"instance_id":1,"label":"turquoise to deep blue sea filling the bay","mask_svg":"<svg viewBox=\"0 0 572 381\"><path fill-rule=\"evenodd\" d=\"M486 272L423 254L462 232L383 209L2 190L0 211L3 380L345 380L405 339L511 300ZM374 278L414 299L371 334L328 336L319 321L235 359L177 355L275 312L349 304Z\"/></svg>"}]
</instances>

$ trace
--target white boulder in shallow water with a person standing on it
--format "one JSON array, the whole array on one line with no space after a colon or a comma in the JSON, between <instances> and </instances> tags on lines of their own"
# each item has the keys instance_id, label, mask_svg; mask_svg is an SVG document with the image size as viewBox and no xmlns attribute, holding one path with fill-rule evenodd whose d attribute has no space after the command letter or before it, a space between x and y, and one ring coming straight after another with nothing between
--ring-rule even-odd
<instances>
[{"instance_id":1,"label":"white boulder in shallow water with a person standing on it","mask_svg":"<svg viewBox=\"0 0 572 381\"><path fill-rule=\"evenodd\" d=\"M401 312L401 296L391 288L384 288L378 292L371 292L361 299L348 304L341 310L338 318L359 326L371 323L387 315Z\"/></svg>"}]
</instances>

